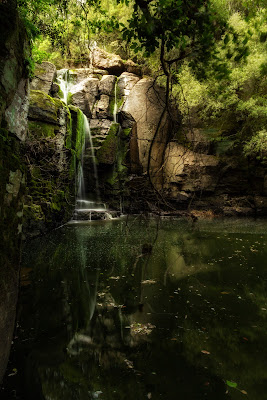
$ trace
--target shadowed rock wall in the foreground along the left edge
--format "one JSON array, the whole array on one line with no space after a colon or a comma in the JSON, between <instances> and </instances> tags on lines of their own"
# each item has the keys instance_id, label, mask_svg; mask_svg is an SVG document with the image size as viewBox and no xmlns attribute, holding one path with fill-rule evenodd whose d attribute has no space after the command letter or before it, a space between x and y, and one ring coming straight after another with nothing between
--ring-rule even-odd
<instances>
[{"instance_id":1,"label":"shadowed rock wall in the foreground along the left edge","mask_svg":"<svg viewBox=\"0 0 267 400\"><path fill-rule=\"evenodd\" d=\"M18 293L25 191L29 56L16 2L0 2L0 382L8 361Z\"/></svg>"}]
</instances>

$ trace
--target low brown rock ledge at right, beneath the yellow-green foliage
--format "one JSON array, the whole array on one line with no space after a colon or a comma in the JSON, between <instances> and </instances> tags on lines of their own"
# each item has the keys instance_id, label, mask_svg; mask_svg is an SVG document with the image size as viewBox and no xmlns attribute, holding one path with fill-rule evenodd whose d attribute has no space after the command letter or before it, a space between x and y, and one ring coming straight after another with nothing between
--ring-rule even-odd
<instances>
[{"instance_id":1,"label":"low brown rock ledge at right, beneath the yellow-green foliage","mask_svg":"<svg viewBox=\"0 0 267 400\"><path fill-rule=\"evenodd\" d=\"M209 144L195 130L187 146L170 142L164 158L164 194L178 208L214 210L227 216L260 216L267 212L263 168L249 170L240 158L206 154ZM188 139L188 136L187 136ZM197 139L197 140L196 140ZM195 150L188 146L192 144ZM258 201L258 196L260 201Z\"/></svg>"}]
</instances>

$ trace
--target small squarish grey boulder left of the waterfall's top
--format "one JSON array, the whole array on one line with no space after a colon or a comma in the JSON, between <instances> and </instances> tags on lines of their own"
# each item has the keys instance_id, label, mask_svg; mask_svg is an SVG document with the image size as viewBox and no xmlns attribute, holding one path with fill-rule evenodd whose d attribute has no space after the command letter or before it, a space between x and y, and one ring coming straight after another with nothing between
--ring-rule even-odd
<instances>
[{"instance_id":1,"label":"small squarish grey boulder left of the waterfall's top","mask_svg":"<svg viewBox=\"0 0 267 400\"><path fill-rule=\"evenodd\" d=\"M52 84L56 79L57 70L54 64L43 61L42 64L36 64L34 78L31 82L32 90L41 90L49 94Z\"/></svg>"}]
</instances>

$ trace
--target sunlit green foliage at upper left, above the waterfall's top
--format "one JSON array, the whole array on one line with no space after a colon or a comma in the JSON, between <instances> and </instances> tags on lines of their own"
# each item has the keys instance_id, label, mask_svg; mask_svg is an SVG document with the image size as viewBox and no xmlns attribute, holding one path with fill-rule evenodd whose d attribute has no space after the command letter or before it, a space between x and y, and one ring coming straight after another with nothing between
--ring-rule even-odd
<instances>
[{"instance_id":1,"label":"sunlit green foliage at upper left, above the waterfall's top","mask_svg":"<svg viewBox=\"0 0 267 400\"><path fill-rule=\"evenodd\" d=\"M117 6L116 0L19 0L18 7L37 63L49 60L61 68L88 62L95 40L107 50L125 55L119 24L127 21L131 9Z\"/></svg>"}]
</instances>

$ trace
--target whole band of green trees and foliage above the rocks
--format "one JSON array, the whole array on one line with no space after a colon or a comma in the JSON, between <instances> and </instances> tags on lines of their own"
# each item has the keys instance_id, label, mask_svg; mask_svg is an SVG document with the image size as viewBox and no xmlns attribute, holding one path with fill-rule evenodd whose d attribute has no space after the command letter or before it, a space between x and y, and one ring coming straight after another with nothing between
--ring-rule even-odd
<instances>
[{"instance_id":1,"label":"whole band of green trees and foliage above the rocks","mask_svg":"<svg viewBox=\"0 0 267 400\"><path fill-rule=\"evenodd\" d=\"M267 163L261 0L19 0L35 62L86 65L92 46L132 58L197 115L217 152ZM97 43L96 43L97 42Z\"/></svg>"}]
</instances>

